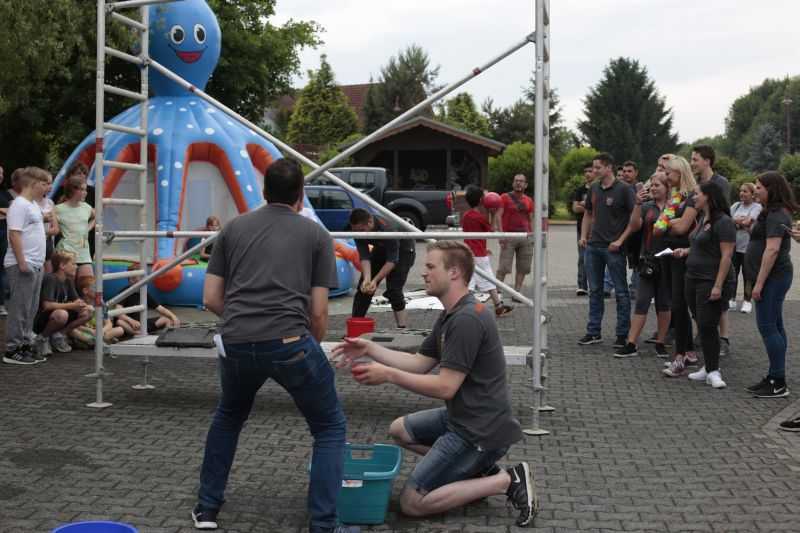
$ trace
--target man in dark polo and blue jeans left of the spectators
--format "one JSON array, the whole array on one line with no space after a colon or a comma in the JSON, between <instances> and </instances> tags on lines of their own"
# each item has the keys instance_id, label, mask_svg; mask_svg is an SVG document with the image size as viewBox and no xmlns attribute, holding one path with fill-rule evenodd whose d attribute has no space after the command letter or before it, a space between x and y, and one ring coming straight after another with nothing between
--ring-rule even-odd
<instances>
[{"instance_id":1,"label":"man in dark polo and blue jeans left of the spectators","mask_svg":"<svg viewBox=\"0 0 800 533\"><path fill-rule=\"evenodd\" d=\"M586 335L578 344L602 341L603 271L608 267L617 299L615 348L625 346L631 322L631 301L628 293L624 244L631 234L634 220L640 216L633 189L614 177L614 159L610 154L597 154L592 160L597 179L586 196L580 245L586 247L586 271L589 277L589 322Z\"/></svg>"}]
</instances>

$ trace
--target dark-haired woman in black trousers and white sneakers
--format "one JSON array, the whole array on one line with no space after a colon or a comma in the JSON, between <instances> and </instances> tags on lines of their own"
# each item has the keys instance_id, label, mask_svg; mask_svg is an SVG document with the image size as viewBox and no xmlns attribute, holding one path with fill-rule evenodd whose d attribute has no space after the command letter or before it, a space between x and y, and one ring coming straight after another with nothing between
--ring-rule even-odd
<instances>
[{"instance_id":1,"label":"dark-haired woman in black trousers and white sneakers","mask_svg":"<svg viewBox=\"0 0 800 533\"><path fill-rule=\"evenodd\" d=\"M736 246L736 225L722 188L706 182L697 187L695 206L700 212L689 248L675 250L686 257L686 300L700 329L705 365L689 379L705 381L715 389L725 387L719 370L719 321L733 292L731 269Z\"/></svg>"}]
</instances>

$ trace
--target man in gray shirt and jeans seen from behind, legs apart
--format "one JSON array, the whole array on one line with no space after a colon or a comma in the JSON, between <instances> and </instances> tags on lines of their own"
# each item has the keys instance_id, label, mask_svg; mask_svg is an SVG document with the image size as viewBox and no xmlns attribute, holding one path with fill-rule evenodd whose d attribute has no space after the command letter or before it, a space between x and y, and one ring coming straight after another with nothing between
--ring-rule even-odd
<instances>
[{"instance_id":1,"label":"man in gray shirt and jeans seen from behind, legs apart","mask_svg":"<svg viewBox=\"0 0 800 533\"><path fill-rule=\"evenodd\" d=\"M335 373L319 344L328 326L328 289L337 286L333 241L299 214L303 172L295 161L280 159L269 167L264 198L269 205L225 226L208 263L203 303L222 317L222 397L192 519L196 529L217 528L239 433L256 393L271 378L292 396L314 437L309 532L357 533L359 528L338 525L346 421Z\"/></svg>"}]
</instances>

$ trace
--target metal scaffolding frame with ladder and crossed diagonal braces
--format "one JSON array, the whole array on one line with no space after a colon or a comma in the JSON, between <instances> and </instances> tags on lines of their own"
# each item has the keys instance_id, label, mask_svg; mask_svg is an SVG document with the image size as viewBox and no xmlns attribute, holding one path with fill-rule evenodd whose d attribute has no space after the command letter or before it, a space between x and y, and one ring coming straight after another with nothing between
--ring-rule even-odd
<instances>
[{"instance_id":1,"label":"metal scaffolding frame with ladder and crossed diagonal braces","mask_svg":"<svg viewBox=\"0 0 800 533\"><path fill-rule=\"evenodd\" d=\"M469 74L465 75L458 81L451 83L450 85L440 89L435 94L431 95L430 97L426 98L424 101L420 102L419 104L415 105L408 111L402 113L400 116L389 122L388 124L384 125L383 127L379 128L375 132L371 133L370 135L364 137L359 142L355 143L354 145L350 146L344 152L340 153L338 156L334 157L333 159L326 162L324 165L318 165L314 161L308 159L303 154L299 153L291 146L287 145L280 139L277 139L269 132L263 130L262 128L258 127L256 124L253 124L249 120L245 119L229 107L225 106L218 100L214 99L213 97L206 94L204 91L198 89L191 83L187 82L174 72L170 71L163 65L159 64L157 61L154 61L152 58L149 57L149 20L148 20L148 11L147 6L151 4L163 4L168 3L170 1L180 1L180 0L126 0L126 1L118 1L118 2L106 2L106 0L97 0L97 114L96 114L96 158L95 158L95 205L96 207L96 237L95 237L95 255L99 257L99 260L95 261L95 278L97 283L96 288L96 298L95 298L95 317L97 321L97 329L96 329L96 343L95 343L95 372L90 374L91 377L96 378L96 401L93 403L88 404L89 407L108 407L111 404L104 401L103 399L103 378L107 374L103 369L103 355L105 351L104 343L103 343L103 319L111 316L116 316L118 314L122 314L125 312L147 312L147 282L162 273L170 270L175 265L179 264L185 258L189 257L192 253L194 253L197 249L201 247L205 247L210 244L214 239L216 239L218 234L211 233L211 232L186 232L186 231L149 231L147 230L147 220L146 220L146 213L144 210L144 203L146 201L146 183L147 183L147 106L142 104L141 105L141 115L140 115L140 128L137 129L127 129L127 133L134 133L141 137L140 139L140 161L138 165L131 165L131 164L123 164L123 163L116 163L113 161L106 161L104 159L103 154L103 137L106 129L114 129L116 131L119 130L119 126L115 126L113 124L107 124L104 122L104 97L105 93L112 93L120 96L134 98L140 101L146 101L148 98L148 70L149 68L155 69L160 74L164 75L168 79L172 80L173 82L177 83L178 85L182 86L186 89L189 93L194 94L195 96L201 98L202 100L208 102L212 106L216 107L217 109L223 111L231 118L239 121L240 123L244 124L245 126L252 129L256 134L260 135L261 137L269 140L274 145L276 145L284 154L289 154L296 159L300 160L301 162L311 166L314 170L306 176L306 180L313 179L314 177L324 174L326 178L330 181L334 182L336 185L348 190L352 194L361 198L364 202L368 205L373 207L375 210L386 216L388 219L394 221L400 228L406 230L406 232L395 232L391 234L383 233L381 234L384 238L389 238L387 235L391 235L392 238L404 238L404 239L418 239L420 237L426 240L433 240L433 237L436 238L447 238L447 239L463 239L463 238L470 238L470 237L477 237L477 238L489 238L489 239L497 239L497 238L516 238L516 237L529 237L527 234L520 234L520 233L481 233L481 234L469 234L469 233L462 233L462 232L441 232L441 233L425 233L416 228L415 226L411 225L410 223L406 222L405 220L401 219L397 215L395 215L392 211L387 209L386 207L382 206L371 197L367 196L360 190L350 186L348 183L340 179L338 176L329 172L329 169L333 168L336 164L338 164L341 160L349 157L351 154L355 153L363 146L369 144L374 139L383 135L389 129L395 127L398 124L401 124L410 118L413 118L416 114L420 111L426 109L434 102L440 100L456 88L460 87L467 81L473 79L474 77L480 75L485 70L489 69L490 67L494 66L495 64L499 63L506 57L512 55L514 52L520 50L528 43L536 43L536 50L537 50L537 57L536 57L536 150L535 150L535 157L534 157L534 186L535 186L535 202L536 207L534 209L534 220L535 220L535 231L534 231L534 299L531 300L526 296L520 294L510 286L506 285L505 283L500 282L497 280L491 272L483 271L482 269L476 268L476 273L490 281L493 281L500 289L505 291L508 294L511 294L515 299L523 302L524 304L534 308L534 319L533 319L533 332L534 332L534 341L533 341L533 350L531 353L531 361L533 366L533 391L534 391L534 417L533 417L533 427L530 430L526 430L529 434L534 435L543 435L547 434L547 431L541 430L538 427L539 418L538 413L540 410L546 410L548 408L542 406L543 396L544 396L544 387L542 386L542 380L546 377L546 372L543 372L543 364L542 364L542 356L544 355L544 350L546 350L546 321L542 321L540 319L541 316L545 316L547 312L547 304L546 304L546 264L544 263L547 259L546 252L543 254L542 250L546 247L546 213L547 210L547 176L548 176L548 169L547 169L547 154L549 153L548 150L548 140L547 140L547 130L548 130L548 115L549 115L549 0L535 0L535 16L536 16L536 27L537 31L527 35L523 40L515 43L509 49L501 53L500 55L496 56L494 59L488 61L486 64L476 67L470 71ZM120 8L133 8L138 7L140 9L141 21L135 21L119 13L116 13L115 10ZM106 14L110 13L111 17L115 20L118 20L133 29L137 30L141 34L142 39L142 47L139 56L131 56L129 54L125 54L124 52L120 52L118 50L114 50L106 46L105 43L105 24L106 24ZM131 63L137 64L142 69L142 83L141 83L141 92L135 93L132 91L127 91L125 89L120 89L117 87L112 87L105 84L104 81L104 62L105 56L110 55L112 57L116 57L119 59L123 59L129 61ZM545 90L545 87L547 90ZM544 91L544 92L543 92ZM124 168L126 170L133 170L139 174L140 178L140 199L103 199L103 169L105 166L113 166L117 168ZM141 208L141 216L140 216L140 229L139 231L114 231L114 232L103 232L103 204L105 205L126 205L126 206L133 206ZM373 236L369 233L355 233L355 232L338 232L332 233L334 237L352 237L352 236ZM167 262L166 264L162 265L161 267L157 268L156 270L150 272L149 274L146 273L146 257L145 257L145 245L144 242L146 239L150 238L159 238L159 237L188 237L188 236L207 236L207 238L199 243L198 245L186 250L183 254L173 258L171 261ZM136 271L130 271L128 273L115 273L115 274L104 274L103 273L103 250L107 243L112 242L114 239L118 240L137 240L140 242L140 265L142 265L142 269ZM144 274L144 276L142 276ZM115 297L108 300L108 302L104 302L103 300L103 280L110 280L110 279L119 279L122 277L138 277L142 276L140 280L131 284L130 287L122 291L121 293L117 294ZM140 294L140 302L141 305L130 307L126 309L110 309L115 306L115 304L122 301L128 295L132 294L136 290L139 291ZM143 315L142 323L145 324L146 320L145 315ZM146 334L146 331L144 332Z\"/></svg>"}]
</instances>

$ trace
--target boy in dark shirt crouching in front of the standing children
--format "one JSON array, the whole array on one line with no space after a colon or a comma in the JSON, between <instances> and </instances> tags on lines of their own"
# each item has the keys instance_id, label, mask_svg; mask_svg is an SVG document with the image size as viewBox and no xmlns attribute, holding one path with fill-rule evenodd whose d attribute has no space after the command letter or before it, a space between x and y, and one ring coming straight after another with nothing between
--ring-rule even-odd
<instances>
[{"instance_id":1,"label":"boy in dark shirt crouching in front of the standing children","mask_svg":"<svg viewBox=\"0 0 800 533\"><path fill-rule=\"evenodd\" d=\"M78 297L75 290L75 256L69 252L53 252L53 272L44 275L39 298L39 312L33 321L36 349L43 357L72 351L66 339L75 328L85 324L94 310Z\"/></svg>"}]
</instances>

